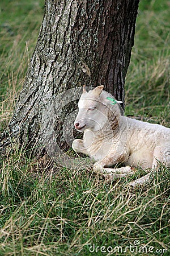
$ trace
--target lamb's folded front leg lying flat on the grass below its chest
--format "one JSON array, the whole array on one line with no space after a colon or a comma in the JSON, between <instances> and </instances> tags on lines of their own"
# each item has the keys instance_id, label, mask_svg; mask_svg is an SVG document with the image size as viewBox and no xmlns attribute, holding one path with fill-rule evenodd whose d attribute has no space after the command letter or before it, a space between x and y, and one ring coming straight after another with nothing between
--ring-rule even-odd
<instances>
[{"instance_id":1,"label":"lamb's folded front leg lying flat on the grass below its chest","mask_svg":"<svg viewBox=\"0 0 170 256\"><path fill-rule=\"evenodd\" d=\"M105 168L106 164L104 162L96 162L94 164L94 171L109 177L109 179L118 179L120 177L125 177L128 174L133 174L134 169L130 166L125 166L121 168Z\"/></svg>"}]
</instances>

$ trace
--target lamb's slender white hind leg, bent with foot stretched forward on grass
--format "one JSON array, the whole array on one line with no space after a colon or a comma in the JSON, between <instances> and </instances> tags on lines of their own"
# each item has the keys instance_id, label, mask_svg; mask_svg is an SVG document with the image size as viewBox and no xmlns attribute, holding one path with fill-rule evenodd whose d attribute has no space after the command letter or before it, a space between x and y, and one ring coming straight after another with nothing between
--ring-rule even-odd
<instances>
[{"instance_id":1,"label":"lamb's slender white hind leg, bent with foot stretched forward on grass","mask_svg":"<svg viewBox=\"0 0 170 256\"><path fill-rule=\"evenodd\" d=\"M162 155L161 147L155 147L154 154L153 154L153 162L152 162L152 173L148 173L137 180L131 181L129 185L132 187L135 187L136 185L142 185L149 182L151 180L152 174L158 171L158 162L163 163L163 155Z\"/></svg>"}]
</instances>

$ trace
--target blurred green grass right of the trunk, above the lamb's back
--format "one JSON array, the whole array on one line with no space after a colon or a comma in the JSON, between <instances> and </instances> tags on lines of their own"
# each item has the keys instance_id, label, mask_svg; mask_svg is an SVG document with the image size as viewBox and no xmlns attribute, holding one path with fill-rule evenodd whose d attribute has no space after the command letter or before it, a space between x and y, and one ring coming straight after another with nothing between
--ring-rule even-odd
<instances>
[{"instance_id":1,"label":"blurred green grass right of the trunk, above the lamb's back","mask_svg":"<svg viewBox=\"0 0 170 256\"><path fill-rule=\"evenodd\" d=\"M168 127L169 4L169 1L141 1L125 85L126 114Z\"/></svg>"}]
</instances>

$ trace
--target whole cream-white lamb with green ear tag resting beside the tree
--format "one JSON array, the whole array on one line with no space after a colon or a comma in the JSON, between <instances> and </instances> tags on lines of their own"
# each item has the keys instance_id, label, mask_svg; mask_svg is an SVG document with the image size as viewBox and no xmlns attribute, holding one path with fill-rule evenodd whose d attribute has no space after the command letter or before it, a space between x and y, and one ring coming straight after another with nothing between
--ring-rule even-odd
<instances>
[{"instance_id":1,"label":"whole cream-white lamb with green ear tag resting beside the tree","mask_svg":"<svg viewBox=\"0 0 170 256\"><path fill-rule=\"evenodd\" d=\"M170 129L121 115L121 102L103 88L87 92L83 87L74 126L84 134L73 141L73 149L94 158L94 171L109 179L134 174L138 166L155 171L160 163L170 167ZM125 166L117 168L118 163ZM129 184L145 184L150 177L151 172Z\"/></svg>"}]
</instances>

